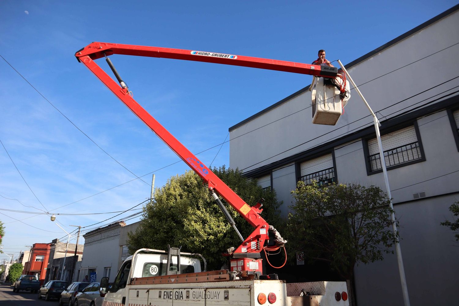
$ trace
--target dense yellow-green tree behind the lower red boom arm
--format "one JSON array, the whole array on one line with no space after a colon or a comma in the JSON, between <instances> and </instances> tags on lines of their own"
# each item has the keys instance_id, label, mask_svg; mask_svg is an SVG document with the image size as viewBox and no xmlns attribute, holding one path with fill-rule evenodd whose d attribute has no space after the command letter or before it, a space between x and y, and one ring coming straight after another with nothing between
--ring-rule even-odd
<instances>
[{"instance_id":1,"label":"dense yellow-green tree behind the lower red boom arm","mask_svg":"<svg viewBox=\"0 0 459 306\"><path fill-rule=\"evenodd\" d=\"M280 203L274 191L263 190L255 179L247 179L237 169L223 166L212 171L249 206L263 197L263 218L274 227L279 224ZM242 236L250 235L254 228L231 206L224 204ZM202 254L211 270L219 269L224 263L221 253L241 244L207 186L193 171L174 176L162 188L156 189L154 199L144 207L139 227L135 233L128 233L131 254L140 248L165 250L168 244L182 246L185 252Z\"/></svg>"}]
</instances>

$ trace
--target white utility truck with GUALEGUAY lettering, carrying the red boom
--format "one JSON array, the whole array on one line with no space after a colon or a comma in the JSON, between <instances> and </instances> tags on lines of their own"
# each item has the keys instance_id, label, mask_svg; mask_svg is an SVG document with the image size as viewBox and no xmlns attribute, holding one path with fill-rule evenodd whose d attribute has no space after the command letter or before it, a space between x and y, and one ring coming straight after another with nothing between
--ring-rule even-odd
<instances>
[{"instance_id":1,"label":"white utility truck with GUALEGUAY lettering, carrying the red boom","mask_svg":"<svg viewBox=\"0 0 459 306\"><path fill-rule=\"evenodd\" d=\"M286 284L283 280L257 279L256 273L201 272L198 259L166 254L137 250L123 262L110 288L108 278L102 278L102 306L349 305L345 282Z\"/></svg>"}]
</instances>

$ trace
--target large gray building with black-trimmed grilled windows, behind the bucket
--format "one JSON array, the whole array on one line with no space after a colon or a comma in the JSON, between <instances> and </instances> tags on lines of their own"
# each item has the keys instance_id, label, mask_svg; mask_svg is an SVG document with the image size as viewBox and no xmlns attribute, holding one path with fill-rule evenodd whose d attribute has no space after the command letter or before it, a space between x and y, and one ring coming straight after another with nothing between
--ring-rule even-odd
<instances>
[{"instance_id":1,"label":"large gray building with black-trimmed grilled windows, behind the bucket","mask_svg":"<svg viewBox=\"0 0 459 306\"><path fill-rule=\"evenodd\" d=\"M382 124L411 305L457 303L459 248L440 223L459 200L458 28L459 5L346 65ZM229 128L230 167L275 189L284 217L299 180L386 189L373 119L355 90L326 126L312 123L308 87ZM403 305L396 256L356 267L355 287L358 305Z\"/></svg>"}]
</instances>

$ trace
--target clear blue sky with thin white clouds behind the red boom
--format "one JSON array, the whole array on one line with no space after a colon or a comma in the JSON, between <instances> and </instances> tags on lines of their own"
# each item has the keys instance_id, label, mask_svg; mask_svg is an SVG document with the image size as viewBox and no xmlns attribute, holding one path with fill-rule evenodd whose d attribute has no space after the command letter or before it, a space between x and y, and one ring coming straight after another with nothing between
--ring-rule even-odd
<instances>
[{"instance_id":1,"label":"clear blue sky with thin white clouds behind the red boom","mask_svg":"<svg viewBox=\"0 0 459 306\"><path fill-rule=\"evenodd\" d=\"M143 177L146 183L131 181L135 176L116 161L137 176L154 172L156 187L188 170L181 161L168 166L179 158L77 62L74 53L91 42L305 63L325 49L328 60L347 64L457 4L448 0L326 1L320 6L317 1L165 2L0 1L4 58L0 58L0 140L36 195L0 146L0 220L6 227L6 254L17 257L25 245L66 237L47 215L4 209L87 214L57 215L57 221L67 232L75 229L69 225L88 230L116 215L91 213L125 211L150 196L146 183L151 183L151 174ZM401 54L394 61L406 57ZM197 155L207 166L229 127L311 80L305 75L209 63L134 56L111 56L111 60L134 99L191 152L216 146ZM97 63L108 69L105 61ZM229 165L229 145L222 146L212 166ZM0 255L5 258L9 257Z\"/></svg>"}]
</instances>

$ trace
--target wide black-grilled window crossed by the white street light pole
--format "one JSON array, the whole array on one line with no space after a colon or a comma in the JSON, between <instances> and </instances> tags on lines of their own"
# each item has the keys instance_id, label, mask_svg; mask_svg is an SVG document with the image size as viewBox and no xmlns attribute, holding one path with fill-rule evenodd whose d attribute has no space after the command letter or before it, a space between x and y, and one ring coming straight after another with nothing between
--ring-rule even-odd
<instances>
[{"instance_id":1,"label":"wide black-grilled window crossed by the white street light pole","mask_svg":"<svg viewBox=\"0 0 459 306\"><path fill-rule=\"evenodd\" d=\"M425 160L414 125L381 136L381 144L387 168ZM368 141L367 161L370 172L382 169L376 138Z\"/></svg>"}]
</instances>

